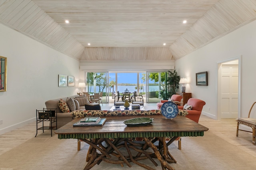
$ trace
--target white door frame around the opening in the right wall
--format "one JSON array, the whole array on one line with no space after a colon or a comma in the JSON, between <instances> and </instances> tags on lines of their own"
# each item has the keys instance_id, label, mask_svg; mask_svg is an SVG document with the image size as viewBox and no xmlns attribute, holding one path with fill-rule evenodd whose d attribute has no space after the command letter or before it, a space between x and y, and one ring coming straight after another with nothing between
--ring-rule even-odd
<instances>
[{"instance_id":1,"label":"white door frame around the opening in the right wall","mask_svg":"<svg viewBox=\"0 0 256 170\"><path fill-rule=\"evenodd\" d=\"M233 57L230 59L218 61L217 72L216 72L216 119L221 119L221 65L222 63L238 60L238 117L241 117L241 65L242 65L242 56Z\"/></svg>"}]
</instances>

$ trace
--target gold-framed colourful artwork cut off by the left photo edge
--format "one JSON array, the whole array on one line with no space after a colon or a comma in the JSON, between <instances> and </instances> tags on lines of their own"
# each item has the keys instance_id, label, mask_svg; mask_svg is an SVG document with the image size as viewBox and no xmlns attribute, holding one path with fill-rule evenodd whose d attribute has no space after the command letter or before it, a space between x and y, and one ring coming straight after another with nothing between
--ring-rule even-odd
<instances>
[{"instance_id":1,"label":"gold-framed colourful artwork cut off by the left photo edge","mask_svg":"<svg viewBox=\"0 0 256 170\"><path fill-rule=\"evenodd\" d=\"M0 56L0 92L6 91L7 58Z\"/></svg>"}]
</instances>

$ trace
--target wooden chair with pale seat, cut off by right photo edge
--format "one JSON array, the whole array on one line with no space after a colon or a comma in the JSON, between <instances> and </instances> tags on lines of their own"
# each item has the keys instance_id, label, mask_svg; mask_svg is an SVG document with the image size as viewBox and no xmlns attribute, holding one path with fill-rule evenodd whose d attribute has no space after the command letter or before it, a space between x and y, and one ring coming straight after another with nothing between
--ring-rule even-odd
<instances>
[{"instance_id":1,"label":"wooden chair with pale seat, cut off by right photo edge","mask_svg":"<svg viewBox=\"0 0 256 170\"><path fill-rule=\"evenodd\" d=\"M254 106L254 104L256 104L256 102L254 102L252 104L252 107ZM255 118L250 118L250 113L252 111L252 107L250 108L250 111L248 113L248 118L247 117L246 118L241 117L241 118L237 119L236 137L238 137L238 131L250 132L250 133L252 133L252 144L255 145L256 144L256 141L255 141L255 138L256 138L256 119ZM239 129L240 124L251 127L252 132L251 131L246 131L246 130L243 130L243 129Z\"/></svg>"}]
</instances>

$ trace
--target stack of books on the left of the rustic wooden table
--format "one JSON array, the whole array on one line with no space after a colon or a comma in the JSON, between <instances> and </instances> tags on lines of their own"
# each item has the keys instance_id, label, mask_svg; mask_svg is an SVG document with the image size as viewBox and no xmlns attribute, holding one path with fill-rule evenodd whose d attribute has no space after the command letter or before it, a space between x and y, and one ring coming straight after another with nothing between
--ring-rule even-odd
<instances>
[{"instance_id":1,"label":"stack of books on the left of the rustic wooden table","mask_svg":"<svg viewBox=\"0 0 256 170\"><path fill-rule=\"evenodd\" d=\"M106 118L100 117L84 117L76 122L73 126L102 126Z\"/></svg>"}]
</instances>

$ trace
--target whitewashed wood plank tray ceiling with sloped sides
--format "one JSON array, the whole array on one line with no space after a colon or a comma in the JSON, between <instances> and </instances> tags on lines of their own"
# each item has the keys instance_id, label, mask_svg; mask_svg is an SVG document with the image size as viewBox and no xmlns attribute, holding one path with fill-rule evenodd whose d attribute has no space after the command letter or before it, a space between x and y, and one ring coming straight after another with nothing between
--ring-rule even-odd
<instances>
[{"instance_id":1,"label":"whitewashed wood plank tray ceiling with sloped sides","mask_svg":"<svg viewBox=\"0 0 256 170\"><path fill-rule=\"evenodd\" d=\"M255 19L256 0L0 0L1 23L80 61L179 59Z\"/></svg>"}]
</instances>

